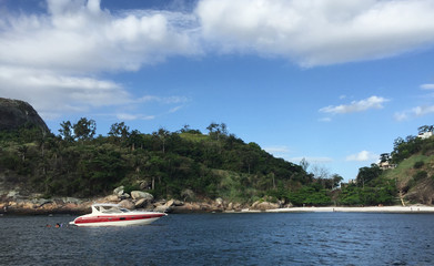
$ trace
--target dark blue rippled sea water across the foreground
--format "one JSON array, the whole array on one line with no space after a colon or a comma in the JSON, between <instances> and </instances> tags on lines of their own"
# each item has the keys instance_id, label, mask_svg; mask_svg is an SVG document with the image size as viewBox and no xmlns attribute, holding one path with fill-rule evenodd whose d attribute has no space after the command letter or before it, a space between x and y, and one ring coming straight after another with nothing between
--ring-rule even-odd
<instances>
[{"instance_id":1,"label":"dark blue rippled sea water across the foreground","mask_svg":"<svg viewBox=\"0 0 434 266\"><path fill-rule=\"evenodd\" d=\"M0 217L0 265L434 265L434 215L173 214L145 226Z\"/></svg>"}]
</instances>

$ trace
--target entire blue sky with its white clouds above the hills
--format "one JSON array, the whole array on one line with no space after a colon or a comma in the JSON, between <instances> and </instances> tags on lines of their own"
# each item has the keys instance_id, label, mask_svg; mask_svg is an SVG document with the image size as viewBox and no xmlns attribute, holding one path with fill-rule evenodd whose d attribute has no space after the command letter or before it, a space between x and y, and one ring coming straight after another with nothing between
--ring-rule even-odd
<instances>
[{"instance_id":1,"label":"entire blue sky with its white clouds above the hills","mask_svg":"<svg viewBox=\"0 0 434 266\"><path fill-rule=\"evenodd\" d=\"M434 117L433 0L0 0L0 96L53 133L211 122L354 178Z\"/></svg>"}]
</instances>

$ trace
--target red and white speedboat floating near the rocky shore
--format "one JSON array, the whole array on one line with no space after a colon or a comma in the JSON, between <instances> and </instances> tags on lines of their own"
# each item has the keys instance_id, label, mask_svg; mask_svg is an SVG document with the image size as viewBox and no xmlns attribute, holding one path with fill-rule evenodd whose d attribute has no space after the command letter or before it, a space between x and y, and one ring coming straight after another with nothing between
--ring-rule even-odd
<instances>
[{"instance_id":1,"label":"red and white speedboat floating near the rocky shore","mask_svg":"<svg viewBox=\"0 0 434 266\"><path fill-rule=\"evenodd\" d=\"M129 211L118 204L100 203L92 205L92 213L77 217L70 222L77 226L125 226L147 225L165 213Z\"/></svg>"}]
</instances>

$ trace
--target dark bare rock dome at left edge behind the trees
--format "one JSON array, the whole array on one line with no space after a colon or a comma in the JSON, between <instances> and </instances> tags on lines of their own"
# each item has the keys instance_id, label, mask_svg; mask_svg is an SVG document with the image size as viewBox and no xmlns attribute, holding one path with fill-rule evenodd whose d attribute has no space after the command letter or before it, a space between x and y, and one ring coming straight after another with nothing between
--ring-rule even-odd
<instances>
[{"instance_id":1,"label":"dark bare rock dome at left edge behind the trees","mask_svg":"<svg viewBox=\"0 0 434 266\"><path fill-rule=\"evenodd\" d=\"M30 124L41 129L44 133L49 132L46 122L29 103L0 98L0 131L17 130Z\"/></svg>"}]
</instances>

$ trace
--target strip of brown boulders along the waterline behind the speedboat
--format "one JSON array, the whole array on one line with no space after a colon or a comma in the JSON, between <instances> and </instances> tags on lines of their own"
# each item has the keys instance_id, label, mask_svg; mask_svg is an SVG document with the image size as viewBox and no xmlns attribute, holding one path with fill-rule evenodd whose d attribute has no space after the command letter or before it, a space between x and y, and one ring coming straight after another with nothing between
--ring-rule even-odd
<instances>
[{"instance_id":1,"label":"strip of brown boulders along the waterline behind the speedboat","mask_svg":"<svg viewBox=\"0 0 434 266\"><path fill-rule=\"evenodd\" d=\"M113 194L98 198L73 198L57 197L42 198L42 195L33 194L22 196L16 191L4 192L0 195L0 214L84 214L91 212L93 203L114 203L129 209L145 209L161 213L221 213L221 212L245 212L266 211L279 208L279 203L268 202L262 198L250 205L240 203L226 203L223 198L202 200L200 202L182 202L179 200L157 201L147 192L133 191L131 195L125 193L123 187L118 187Z\"/></svg>"}]
</instances>

